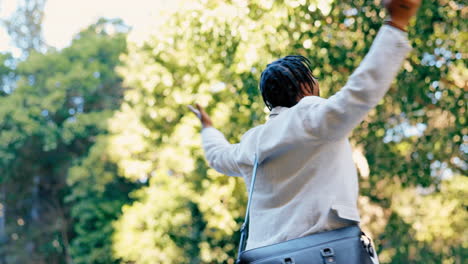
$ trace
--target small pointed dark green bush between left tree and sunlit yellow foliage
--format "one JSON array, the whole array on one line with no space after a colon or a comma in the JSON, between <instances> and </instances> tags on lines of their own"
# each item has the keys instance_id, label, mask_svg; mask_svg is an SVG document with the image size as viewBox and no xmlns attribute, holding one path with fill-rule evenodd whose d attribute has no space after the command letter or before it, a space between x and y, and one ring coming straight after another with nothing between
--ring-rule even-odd
<instances>
[{"instance_id":1,"label":"small pointed dark green bush between left tree and sunlit yellow foliage","mask_svg":"<svg viewBox=\"0 0 468 264\"><path fill-rule=\"evenodd\" d=\"M75 238L70 254L73 263L118 263L112 257L112 220L130 202L128 193L135 184L119 177L107 154L108 139L100 136L86 158L71 167L67 183Z\"/></svg>"}]
</instances>

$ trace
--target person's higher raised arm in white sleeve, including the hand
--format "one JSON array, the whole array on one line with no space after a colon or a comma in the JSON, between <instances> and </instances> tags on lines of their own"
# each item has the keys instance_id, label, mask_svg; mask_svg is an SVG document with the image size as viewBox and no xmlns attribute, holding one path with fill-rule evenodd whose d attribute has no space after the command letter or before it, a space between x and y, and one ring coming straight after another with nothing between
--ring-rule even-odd
<instances>
[{"instance_id":1,"label":"person's higher raised arm in white sleeve, including the hand","mask_svg":"<svg viewBox=\"0 0 468 264\"><path fill-rule=\"evenodd\" d=\"M306 109L307 130L321 138L343 138L378 104L411 50L405 30L420 2L384 1L390 13L387 25L380 29L366 57L341 91L322 104L311 104L313 109Z\"/></svg>"}]
</instances>

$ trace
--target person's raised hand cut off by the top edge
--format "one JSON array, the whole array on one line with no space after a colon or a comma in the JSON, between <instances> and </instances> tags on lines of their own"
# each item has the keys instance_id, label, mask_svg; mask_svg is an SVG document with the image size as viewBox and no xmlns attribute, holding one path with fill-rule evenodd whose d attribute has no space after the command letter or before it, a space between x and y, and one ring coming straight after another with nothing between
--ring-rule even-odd
<instances>
[{"instance_id":1,"label":"person's raised hand cut off by the top edge","mask_svg":"<svg viewBox=\"0 0 468 264\"><path fill-rule=\"evenodd\" d=\"M422 0L383 0L390 14L388 24L406 31L410 19L416 14Z\"/></svg>"}]
</instances>

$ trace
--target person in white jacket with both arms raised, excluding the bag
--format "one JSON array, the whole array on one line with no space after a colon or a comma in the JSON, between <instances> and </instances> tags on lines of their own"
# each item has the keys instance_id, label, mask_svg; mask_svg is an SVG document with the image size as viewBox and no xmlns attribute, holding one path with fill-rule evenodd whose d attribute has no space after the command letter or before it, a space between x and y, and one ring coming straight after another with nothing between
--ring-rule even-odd
<instances>
[{"instance_id":1,"label":"person in white jacket with both arms raised, excluding the bag","mask_svg":"<svg viewBox=\"0 0 468 264\"><path fill-rule=\"evenodd\" d=\"M385 95L411 50L405 29L420 0L384 1L390 13L360 66L334 96L320 97L310 62L287 56L269 64L260 90L271 110L265 124L230 144L200 105L206 159L242 176L259 169L247 249L359 223L358 177L347 135Z\"/></svg>"}]
</instances>

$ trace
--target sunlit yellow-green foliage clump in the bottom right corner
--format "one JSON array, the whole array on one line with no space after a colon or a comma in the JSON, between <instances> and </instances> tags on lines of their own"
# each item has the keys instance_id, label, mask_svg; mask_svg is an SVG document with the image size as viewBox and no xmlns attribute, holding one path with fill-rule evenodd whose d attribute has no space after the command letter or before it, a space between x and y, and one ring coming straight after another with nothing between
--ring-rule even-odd
<instances>
[{"instance_id":1,"label":"sunlit yellow-green foliage clump in the bottom right corner","mask_svg":"<svg viewBox=\"0 0 468 264\"><path fill-rule=\"evenodd\" d=\"M424 246L426 243L434 253L439 253L440 260L457 263L457 256L461 256L458 261L466 259L467 253L463 257L461 248L466 248L468 241L468 212L464 202L468 197L467 184L468 181L462 176L456 176L442 182L440 192L420 195L414 189L399 191L392 206L402 220L411 225L409 232L413 245L408 245L409 248L417 249L417 245ZM444 258L444 255L447 257ZM420 256L415 256L415 260L423 262Z\"/></svg>"}]
</instances>

